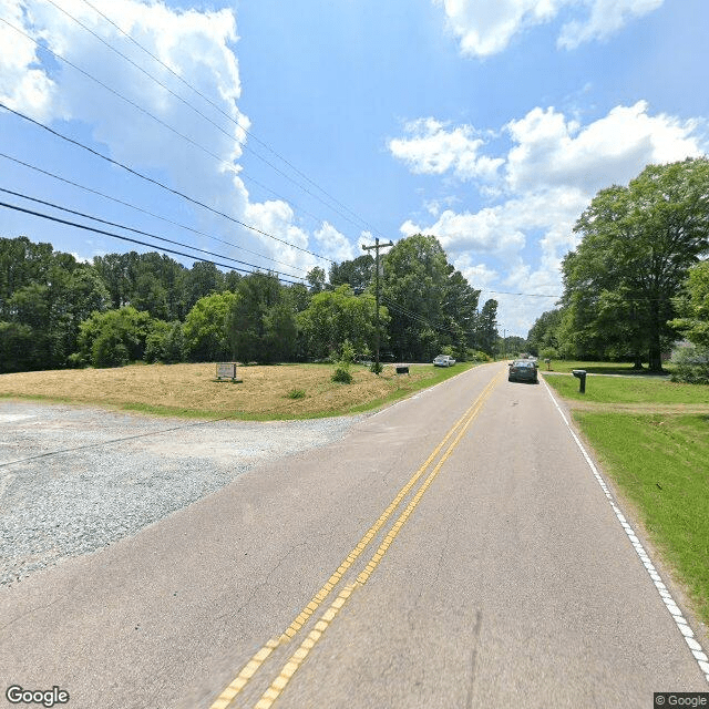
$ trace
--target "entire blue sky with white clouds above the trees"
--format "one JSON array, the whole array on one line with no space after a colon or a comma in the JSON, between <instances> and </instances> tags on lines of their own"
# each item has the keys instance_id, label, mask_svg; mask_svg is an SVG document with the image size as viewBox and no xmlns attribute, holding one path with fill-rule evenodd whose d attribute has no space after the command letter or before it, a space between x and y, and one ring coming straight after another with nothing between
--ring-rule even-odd
<instances>
[{"instance_id":1,"label":"entire blue sky with white clouds above the trees","mask_svg":"<svg viewBox=\"0 0 709 709\"><path fill-rule=\"evenodd\" d=\"M0 0L0 203L111 234L0 206L0 236L298 281L433 235L526 337L594 195L709 151L707 27L706 0Z\"/></svg>"}]
</instances>

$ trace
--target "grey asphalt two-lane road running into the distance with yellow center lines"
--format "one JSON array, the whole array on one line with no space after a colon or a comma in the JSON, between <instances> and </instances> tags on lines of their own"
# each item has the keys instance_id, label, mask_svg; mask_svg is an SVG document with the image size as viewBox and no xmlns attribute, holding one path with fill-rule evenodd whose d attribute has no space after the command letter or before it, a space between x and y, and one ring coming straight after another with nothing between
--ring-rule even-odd
<instances>
[{"instance_id":1,"label":"grey asphalt two-lane road running into the distance with yellow center lines","mask_svg":"<svg viewBox=\"0 0 709 709\"><path fill-rule=\"evenodd\" d=\"M545 384L505 372L471 370L0 588L3 695L647 709L656 691L709 691L706 628Z\"/></svg>"}]
</instances>

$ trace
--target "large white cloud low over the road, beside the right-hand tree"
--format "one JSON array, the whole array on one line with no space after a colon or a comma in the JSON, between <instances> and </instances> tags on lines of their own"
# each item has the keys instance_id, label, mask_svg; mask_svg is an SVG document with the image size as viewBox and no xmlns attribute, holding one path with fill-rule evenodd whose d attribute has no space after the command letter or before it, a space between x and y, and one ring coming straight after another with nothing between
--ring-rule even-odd
<instances>
[{"instance_id":1,"label":"large white cloud low over the road, beside the right-hand tree","mask_svg":"<svg viewBox=\"0 0 709 709\"><path fill-rule=\"evenodd\" d=\"M427 121L435 125L433 119ZM500 164L497 204L477 212L433 210L432 224L409 219L401 232L436 236L474 287L558 295L562 258L577 244L573 226L594 194L612 184L626 184L649 163L701 155L709 147L705 127L699 120L651 115L643 101L616 106L586 125L554 109L535 107L503 126L510 147L491 157ZM448 129L450 134L455 131ZM455 147L467 150L462 143L450 145L450 172L456 169ZM420 172L407 162L412 172ZM530 247L535 249L533 257ZM500 268L481 268L483 259L496 260ZM492 295L483 294L481 299L487 297ZM540 305L554 307L553 299L501 296L497 300L501 322L516 327L521 335L538 315Z\"/></svg>"}]
</instances>

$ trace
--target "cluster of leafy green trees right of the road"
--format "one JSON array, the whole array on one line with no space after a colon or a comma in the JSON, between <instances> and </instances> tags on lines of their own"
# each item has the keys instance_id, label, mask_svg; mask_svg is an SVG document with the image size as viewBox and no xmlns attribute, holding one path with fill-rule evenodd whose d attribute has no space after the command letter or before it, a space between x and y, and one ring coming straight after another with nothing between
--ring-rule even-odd
<instances>
[{"instance_id":1,"label":"cluster of leafy green trees right of the road","mask_svg":"<svg viewBox=\"0 0 709 709\"><path fill-rule=\"evenodd\" d=\"M559 307L536 320L530 349L654 372L675 349L679 377L709 383L709 161L649 165L602 189L575 232Z\"/></svg>"}]
</instances>

